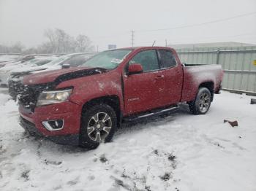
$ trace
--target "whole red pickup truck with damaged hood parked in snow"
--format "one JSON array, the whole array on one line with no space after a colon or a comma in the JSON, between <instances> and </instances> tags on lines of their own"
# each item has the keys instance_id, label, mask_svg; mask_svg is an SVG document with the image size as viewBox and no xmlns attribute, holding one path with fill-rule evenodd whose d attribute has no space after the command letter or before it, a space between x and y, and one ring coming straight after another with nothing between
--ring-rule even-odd
<instances>
[{"instance_id":1,"label":"whole red pickup truck with damaged hood parked in snow","mask_svg":"<svg viewBox=\"0 0 256 191\"><path fill-rule=\"evenodd\" d=\"M78 68L24 77L20 125L61 144L96 148L124 120L169 112L181 102L206 114L222 76L221 66L185 66L169 47L108 50Z\"/></svg>"}]
</instances>

